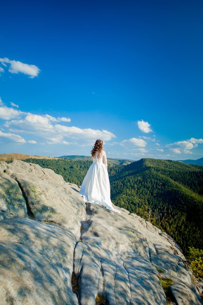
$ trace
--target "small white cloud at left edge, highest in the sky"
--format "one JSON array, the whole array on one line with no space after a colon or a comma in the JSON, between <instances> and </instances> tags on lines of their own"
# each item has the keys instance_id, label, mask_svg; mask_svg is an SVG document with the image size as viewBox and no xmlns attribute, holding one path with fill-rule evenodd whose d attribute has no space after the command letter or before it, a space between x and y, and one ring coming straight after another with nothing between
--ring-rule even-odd
<instances>
[{"instance_id":1,"label":"small white cloud at left edge, highest in the sky","mask_svg":"<svg viewBox=\"0 0 203 305\"><path fill-rule=\"evenodd\" d=\"M30 78L38 76L40 70L36 65L30 65L16 60L10 60L7 57L0 58L0 62L3 66L6 66L5 63L10 64L8 71L12 74L23 73L28 75Z\"/></svg>"}]
</instances>

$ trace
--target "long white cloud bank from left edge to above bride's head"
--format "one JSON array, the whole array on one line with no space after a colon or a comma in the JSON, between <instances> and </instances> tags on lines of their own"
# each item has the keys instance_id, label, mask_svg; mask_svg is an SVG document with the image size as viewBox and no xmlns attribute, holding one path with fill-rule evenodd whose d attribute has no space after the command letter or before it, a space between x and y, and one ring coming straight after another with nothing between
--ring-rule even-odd
<instances>
[{"instance_id":1,"label":"long white cloud bank from left edge to above bride's head","mask_svg":"<svg viewBox=\"0 0 203 305\"><path fill-rule=\"evenodd\" d=\"M16 104L13 104L13 106ZM70 123L69 117L54 117L50 114L32 114L7 107L0 99L0 118L4 120L0 138L17 142L36 144L93 145L97 138L109 141L115 135L107 130L80 128L60 124ZM26 140L26 138L29 138ZM31 138L31 139L30 139ZM32 139L34 138L34 139Z\"/></svg>"}]
</instances>

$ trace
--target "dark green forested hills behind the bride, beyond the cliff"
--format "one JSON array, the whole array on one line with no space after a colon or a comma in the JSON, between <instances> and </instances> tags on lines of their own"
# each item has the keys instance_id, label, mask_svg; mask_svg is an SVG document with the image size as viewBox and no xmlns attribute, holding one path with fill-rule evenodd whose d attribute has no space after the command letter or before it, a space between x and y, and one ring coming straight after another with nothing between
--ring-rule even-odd
<instances>
[{"instance_id":1,"label":"dark green forested hills behind the bride, beyond the cliff","mask_svg":"<svg viewBox=\"0 0 203 305\"><path fill-rule=\"evenodd\" d=\"M27 159L81 185L92 164L82 159ZM109 164L110 165L110 164ZM203 167L179 161L141 159L109 166L112 202L171 235L184 251L203 248Z\"/></svg>"}]
</instances>

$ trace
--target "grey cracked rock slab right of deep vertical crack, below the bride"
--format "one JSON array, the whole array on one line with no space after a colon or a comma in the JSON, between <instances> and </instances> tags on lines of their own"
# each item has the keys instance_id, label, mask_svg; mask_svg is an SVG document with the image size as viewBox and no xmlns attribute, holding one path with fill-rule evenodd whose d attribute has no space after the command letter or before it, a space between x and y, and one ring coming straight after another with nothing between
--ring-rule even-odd
<instances>
[{"instance_id":1,"label":"grey cracked rock slab right of deep vertical crack, below the bride","mask_svg":"<svg viewBox=\"0 0 203 305\"><path fill-rule=\"evenodd\" d=\"M144 222L129 216L127 210L119 215L87 204L82 242L74 254L81 304L95 304L98 293L106 294L115 305L166 304L159 278L173 281L177 304L202 304L180 248L170 236L163 237L160 229Z\"/></svg>"}]
</instances>

